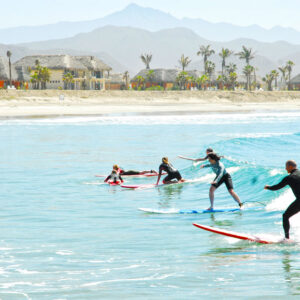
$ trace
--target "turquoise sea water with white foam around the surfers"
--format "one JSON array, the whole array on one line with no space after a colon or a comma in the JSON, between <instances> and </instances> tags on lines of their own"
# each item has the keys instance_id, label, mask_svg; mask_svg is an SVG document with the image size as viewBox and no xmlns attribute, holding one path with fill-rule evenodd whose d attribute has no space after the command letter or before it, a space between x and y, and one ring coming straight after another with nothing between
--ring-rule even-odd
<instances>
[{"instance_id":1,"label":"turquoise sea water with white foam around the surfers","mask_svg":"<svg viewBox=\"0 0 300 300\"><path fill-rule=\"evenodd\" d=\"M0 121L1 299L283 299L300 295L299 245L259 245L192 223L279 238L290 190L265 184L300 162L300 113L105 116ZM178 154L225 155L245 211L205 209L213 178ZM168 156L191 184L122 190L102 184L114 163L157 169ZM153 178L126 179L128 184ZM234 208L224 186L215 208ZM291 220L300 241L300 216Z\"/></svg>"}]
</instances>

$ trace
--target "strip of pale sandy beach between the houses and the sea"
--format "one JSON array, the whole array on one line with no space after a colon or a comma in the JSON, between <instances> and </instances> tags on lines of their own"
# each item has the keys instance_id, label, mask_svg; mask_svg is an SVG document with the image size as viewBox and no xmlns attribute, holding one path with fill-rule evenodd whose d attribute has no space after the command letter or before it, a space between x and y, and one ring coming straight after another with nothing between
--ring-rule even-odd
<instances>
[{"instance_id":1,"label":"strip of pale sandy beach between the houses and the sea","mask_svg":"<svg viewBox=\"0 0 300 300\"><path fill-rule=\"evenodd\" d=\"M0 91L2 118L257 111L300 111L300 92Z\"/></svg>"}]
</instances>

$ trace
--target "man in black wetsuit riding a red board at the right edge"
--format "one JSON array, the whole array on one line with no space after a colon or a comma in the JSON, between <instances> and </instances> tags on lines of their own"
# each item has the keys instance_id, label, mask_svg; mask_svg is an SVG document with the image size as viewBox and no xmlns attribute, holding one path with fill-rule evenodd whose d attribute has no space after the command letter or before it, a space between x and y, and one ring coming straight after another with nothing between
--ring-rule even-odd
<instances>
[{"instance_id":1,"label":"man in black wetsuit riding a red board at the right edge","mask_svg":"<svg viewBox=\"0 0 300 300\"><path fill-rule=\"evenodd\" d=\"M282 215L283 229L285 238L290 238L290 222L289 218L300 211L300 170L297 169L297 164L294 160L288 160L285 164L285 169L289 173L278 184L266 185L266 190L277 191L289 185L296 196L296 200L287 208Z\"/></svg>"}]
</instances>

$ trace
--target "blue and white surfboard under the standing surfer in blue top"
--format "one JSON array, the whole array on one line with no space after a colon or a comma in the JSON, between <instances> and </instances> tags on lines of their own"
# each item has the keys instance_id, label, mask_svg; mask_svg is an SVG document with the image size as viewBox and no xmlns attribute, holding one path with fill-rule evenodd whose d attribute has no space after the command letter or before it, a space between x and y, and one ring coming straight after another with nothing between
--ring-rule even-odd
<instances>
[{"instance_id":1,"label":"blue and white surfboard under the standing surfer in blue top","mask_svg":"<svg viewBox=\"0 0 300 300\"><path fill-rule=\"evenodd\" d=\"M223 208L213 210L201 209L152 209L152 208L138 208L139 210L149 214L207 214L207 213L221 213L221 212L236 212L241 211L239 208Z\"/></svg>"}]
</instances>

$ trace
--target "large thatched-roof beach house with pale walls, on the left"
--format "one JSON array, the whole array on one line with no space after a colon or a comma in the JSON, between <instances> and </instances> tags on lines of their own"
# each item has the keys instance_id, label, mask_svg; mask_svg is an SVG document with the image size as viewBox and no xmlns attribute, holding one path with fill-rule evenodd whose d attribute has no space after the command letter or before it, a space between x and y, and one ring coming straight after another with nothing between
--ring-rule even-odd
<instances>
[{"instance_id":1,"label":"large thatched-roof beach house with pale walls, on the left","mask_svg":"<svg viewBox=\"0 0 300 300\"><path fill-rule=\"evenodd\" d=\"M18 79L32 82L37 65L49 70L47 89L102 90L111 71L110 66L94 56L32 55L14 63Z\"/></svg>"}]
</instances>

